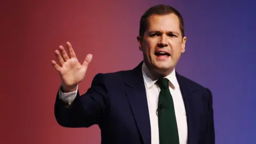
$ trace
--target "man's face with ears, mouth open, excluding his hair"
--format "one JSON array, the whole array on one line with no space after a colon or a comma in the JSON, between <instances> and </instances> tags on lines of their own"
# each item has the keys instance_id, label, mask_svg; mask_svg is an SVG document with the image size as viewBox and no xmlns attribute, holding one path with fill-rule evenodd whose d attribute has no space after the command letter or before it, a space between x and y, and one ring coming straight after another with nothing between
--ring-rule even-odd
<instances>
[{"instance_id":1,"label":"man's face with ears, mouth open, excluding his hair","mask_svg":"<svg viewBox=\"0 0 256 144\"><path fill-rule=\"evenodd\" d=\"M143 38L138 37L143 59L149 69L168 75L185 52L187 38L181 35L179 19L171 13L151 15Z\"/></svg>"}]
</instances>

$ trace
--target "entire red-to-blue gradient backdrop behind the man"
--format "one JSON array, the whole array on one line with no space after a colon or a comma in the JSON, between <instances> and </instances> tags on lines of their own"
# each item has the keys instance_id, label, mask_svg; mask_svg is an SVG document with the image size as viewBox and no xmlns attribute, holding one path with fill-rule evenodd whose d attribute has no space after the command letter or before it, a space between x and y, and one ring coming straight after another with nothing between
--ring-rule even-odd
<instances>
[{"instance_id":1,"label":"entire red-to-blue gradient backdrop behind the man","mask_svg":"<svg viewBox=\"0 0 256 144\"><path fill-rule=\"evenodd\" d=\"M177 71L213 93L216 143L255 143L256 2L1 1L0 143L100 143L98 126L68 129L54 118L60 79L54 50L70 41L93 60L80 91L97 73L132 69L142 60L136 36L156 4L185 19L186 53Z\"/></svg>"}]
</instances>

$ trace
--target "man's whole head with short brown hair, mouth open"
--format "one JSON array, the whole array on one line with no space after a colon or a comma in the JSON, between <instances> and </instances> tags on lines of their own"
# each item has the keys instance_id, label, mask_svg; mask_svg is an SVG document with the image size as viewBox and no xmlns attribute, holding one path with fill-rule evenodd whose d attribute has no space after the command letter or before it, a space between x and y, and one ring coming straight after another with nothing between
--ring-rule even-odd
<instances>
[{"instance_id":1,"label":"man's whole head with short brown hair, mouth open","mask_svg":"<svg viewBox=\"0 0 256 144\"><path fill-rule=\"evenodd\" d=\"M181 14L171 6L150 7L140 19L137 39L147 67L164 76L170 74L185 52Z\"/></svg>"}]
</instances>

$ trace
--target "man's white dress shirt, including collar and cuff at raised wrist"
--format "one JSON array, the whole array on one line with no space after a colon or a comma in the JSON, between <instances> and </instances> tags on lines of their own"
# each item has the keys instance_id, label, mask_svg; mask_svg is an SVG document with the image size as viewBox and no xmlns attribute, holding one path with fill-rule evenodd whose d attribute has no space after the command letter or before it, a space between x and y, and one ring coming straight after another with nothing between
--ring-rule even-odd
<instances>
[{"instance_id":1,"label":"man's white dress shirt, including collar and cuff at raised wrist","mask_svg":"<svg viewBox=\"0 0 256 144\"><path fill-rule=\"evenodd\" d=\"M159 87L155 84L157 80L153 80L153 77L150 75L149 70L145 63L142 65L142 74L146 87L149 117L150 117L150 126L151 126L151 143L159 144L159 133L158 133L158 117L156 115L156 110L158 106L158 97L160 93ZM166 76L169 79L169 89L172 94L172 99L174 103L175 116L177 119L178 133L180 144L187 143L187 117L186 110L183 103L179 83L175 75L175 69L172 73ZM78 90L78 86L77 86ZM63 93L59 91L60 98L67 102L71 103L75 97L77 90L74 92Z\"/></svg>"}]
</instances>

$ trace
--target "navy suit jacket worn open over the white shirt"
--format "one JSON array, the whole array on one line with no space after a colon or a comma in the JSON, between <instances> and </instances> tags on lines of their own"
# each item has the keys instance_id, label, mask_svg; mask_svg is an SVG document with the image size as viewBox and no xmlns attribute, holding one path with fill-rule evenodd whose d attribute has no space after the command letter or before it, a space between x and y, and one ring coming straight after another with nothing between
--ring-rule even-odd
<instances>
[{"instance_id":1,"label":"navy suit jacket worn open over the white shirt","mask_svg":"<svg viewBox=\"0 0 256 144\"><path fill-rule=\"evenodd\" d=\"M97 74L90 89L67 106L57 93L54 114L64 127L98 124L101 143L150 144L150 119L142 62L132 70ZM213 144L211 91L176 73L185 103L188 143Z\"/></svg>"}]
</instances>

